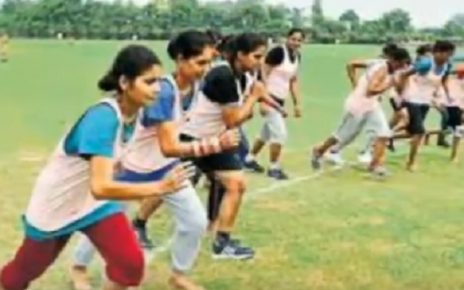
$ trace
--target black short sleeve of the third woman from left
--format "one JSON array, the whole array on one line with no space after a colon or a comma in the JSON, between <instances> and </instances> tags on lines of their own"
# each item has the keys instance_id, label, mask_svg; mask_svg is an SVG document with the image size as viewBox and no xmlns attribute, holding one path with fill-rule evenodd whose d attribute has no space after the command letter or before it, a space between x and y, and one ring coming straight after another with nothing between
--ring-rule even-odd
<instances>
[{"instance_id":1,"label":"black short sleeve of the third woman from left","mask_svg":"<svg viewBox=\"0 0 464 290\"><path fill-rule=\"evenodd\" d=\"M247 81L245 74L235 76L230 67L217 66L205 76L202 91L212 102L221 105L236 103L240 100L237 79L240 81L241 91L245 90Z\"/></svg>"}]
</instances>

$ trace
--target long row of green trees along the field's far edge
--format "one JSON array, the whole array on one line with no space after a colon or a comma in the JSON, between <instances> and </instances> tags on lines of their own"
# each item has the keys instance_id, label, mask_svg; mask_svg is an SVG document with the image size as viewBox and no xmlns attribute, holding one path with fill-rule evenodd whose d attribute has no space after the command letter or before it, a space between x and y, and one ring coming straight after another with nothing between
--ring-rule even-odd
<instances>
[{"instance_id":1,"label":"long row of green trees along the field's far edge","mask_svg":"<svg viewBox=\"0 0 464 290\"><path fill-rule=\"evenodd\" d=\"M116 0L3 0L0 31L16 37L88 39L167 39L186 28L220 30L223 34L252 30L280 36L290 27L310 32L319 43L382 43L464 39L464 13L451 16L444 27L417 29L409 13L394 9L376 20L362 20L354 10L338 19L327 17L322 0L310 11L264 0L152 0L144 6Z\"/></svg>"}]
</instances>

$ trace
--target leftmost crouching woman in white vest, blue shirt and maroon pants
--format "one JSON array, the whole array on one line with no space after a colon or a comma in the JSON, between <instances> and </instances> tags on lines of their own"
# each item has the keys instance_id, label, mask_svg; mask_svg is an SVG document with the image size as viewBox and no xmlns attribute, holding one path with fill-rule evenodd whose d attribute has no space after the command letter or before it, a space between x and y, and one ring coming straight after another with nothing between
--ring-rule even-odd
<instances>
[{"instance_id":1,"label":"leftmost crouching woman in white vest, blue shirt and maroon pants","mask_svg":"<svg viewBox=\"0 0 464 290\"><path fill-rule=\"evenodd\" d=\"M108 97L81 116L39 175L23 218L25 238L1 270L1 289L27 289L77 231L92 241L106 263L108 281L103 289L140 284L142 252L121 205L110 200L175 192L185 186L191 171L173 167L157 182L113 180L115 167L132 142L139 109L157 98L160 76L161 63L148 48L132 45L119 52L99 82Z\"/></svg>"}]
</instances>

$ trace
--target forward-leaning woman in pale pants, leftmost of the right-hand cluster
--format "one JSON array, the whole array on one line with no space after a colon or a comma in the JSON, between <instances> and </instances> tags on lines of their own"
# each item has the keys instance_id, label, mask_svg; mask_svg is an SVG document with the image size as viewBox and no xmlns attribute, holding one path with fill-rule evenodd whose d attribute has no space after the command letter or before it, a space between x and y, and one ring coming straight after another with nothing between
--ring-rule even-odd
<instances>
[{"instance_id":1,"label":"forward-leaning woman in pale pants, leftmost of the right-hand cluster","mask_svg":"<svg viewBox=\"0 0 464 290\"><path fill-rule=\"evenodd\" d=\"M380 96L395 84L393 74L405 67L408 60L407 50L397 48L386 62L376 64L364 73L346 100L345 115L336 133L313 149L311 163L314 169L321 168L321 159L332 146L350 144L366 124L375 124L376 142L369 171L379 177L387 174L384 155L391 131L385 114L377 107L380 106Z\"/></svg>"}]
</instances>

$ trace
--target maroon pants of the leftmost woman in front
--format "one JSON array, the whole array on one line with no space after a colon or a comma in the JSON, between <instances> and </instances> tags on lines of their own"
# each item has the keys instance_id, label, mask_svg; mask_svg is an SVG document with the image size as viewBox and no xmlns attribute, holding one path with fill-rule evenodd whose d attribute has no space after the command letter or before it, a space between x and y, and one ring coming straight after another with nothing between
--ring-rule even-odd
<instances>
[{"instance_id":1,"label":"maroon pants of the leftmost woman in front","mask_svg":"<svg viewBox=\"0 0 464 290\"><path fill-rule=\"evenodd\" d=\"M144 259L135 234L123 214L115 214L82 231L106 263L108 278L122 286L138 286ZM24 290L53 264L70 236L35 241L24 238L14 259L0 273L5 290Z\"/></svg>"}]
</instances>

